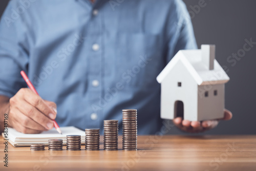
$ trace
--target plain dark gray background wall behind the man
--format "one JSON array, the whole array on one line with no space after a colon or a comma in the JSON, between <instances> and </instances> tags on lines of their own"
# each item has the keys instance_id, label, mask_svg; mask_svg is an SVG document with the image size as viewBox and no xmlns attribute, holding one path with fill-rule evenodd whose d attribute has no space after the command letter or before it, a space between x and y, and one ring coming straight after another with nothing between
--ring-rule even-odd
<instances>
[{"instance_id":1,"label":"plain dark gray background wall behind the man","mask_svg":"<svg viewBox=\"0 0 256 171\"><path fill-rule=\"evenodd\" d=\"M156 0L157 1L157 0ZM256 46L246 52L235 66L228 56L243 49L245 39L256 42L255 0L205 0L204 7L194 12L190 6L202 0L184 0L192 18L198 46L215 44L216 58L228 68L230 81L226 84L226 108L232 111L230 121L221 121L204 134L255 134L256 133ZM0 16L8 0L0 1ZM183 134L175 127L170 134Z\"/></svg>"}]
</instances>

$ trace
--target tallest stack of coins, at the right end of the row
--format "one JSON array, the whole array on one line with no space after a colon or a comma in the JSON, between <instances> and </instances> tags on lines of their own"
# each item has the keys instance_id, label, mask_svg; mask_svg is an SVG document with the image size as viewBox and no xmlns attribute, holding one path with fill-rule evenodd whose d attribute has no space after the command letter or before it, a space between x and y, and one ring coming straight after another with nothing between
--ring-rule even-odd
<instances>
[{"instance_id":1,"label":"tallest stack of coins, at the right end of the row","mask_svg":"<svg viewBox=\"0 0 256 171\"><path fill-rule=\"evenodd\" d=\"M137 150L137 110L125 109L123 112L123 150Z\"/></svg>"}]
</instances>

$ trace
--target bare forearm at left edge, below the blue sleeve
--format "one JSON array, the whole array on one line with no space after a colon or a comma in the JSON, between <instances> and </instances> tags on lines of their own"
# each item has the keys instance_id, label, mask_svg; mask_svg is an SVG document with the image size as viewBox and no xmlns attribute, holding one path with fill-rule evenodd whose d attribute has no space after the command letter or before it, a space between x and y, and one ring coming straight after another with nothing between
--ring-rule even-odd
<instances>
[{"instance_id":1,"label":"bare forearm at left edge, below the blue sleeve","mask_svg":"<svg viewBox=\"0 0 256 171\"><path fill-rule=\"evenodd\" d=\"M4 131L4 114L9 112L9 97L0 95L0 133Z\"/></svg>"}]
</instances>

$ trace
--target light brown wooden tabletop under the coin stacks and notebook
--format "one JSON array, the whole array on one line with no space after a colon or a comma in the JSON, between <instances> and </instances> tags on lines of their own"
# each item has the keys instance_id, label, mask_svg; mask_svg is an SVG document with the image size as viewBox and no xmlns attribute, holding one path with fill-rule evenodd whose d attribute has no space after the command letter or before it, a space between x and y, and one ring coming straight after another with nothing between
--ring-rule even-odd
<instances>
[{"instance_id":1,"label":"light brown wooden tabletop under the coin stacks and notebook","mask_svg":"<svg viewBox=\"0 0 256 171\"><path fill-rule=\"evenodd\" d=\"M45 151L8 146L0 170L256 170L256 136L138 136L138 151Z\"/></svg>"}]
</instances>

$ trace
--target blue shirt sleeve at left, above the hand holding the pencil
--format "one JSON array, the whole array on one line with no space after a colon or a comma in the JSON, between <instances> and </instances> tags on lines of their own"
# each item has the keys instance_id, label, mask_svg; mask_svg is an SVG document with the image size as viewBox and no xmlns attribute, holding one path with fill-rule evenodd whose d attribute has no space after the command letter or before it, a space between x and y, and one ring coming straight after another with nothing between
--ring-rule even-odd
<instances>
[{"instance_id":1,"label":"blue shirt sleeve at left, above the hand holding the pencil","mask_svg":"<svg viewBox=\"0 0 256 171\"><path fill-rule=\"evenodd\" d=\"M20 71L27 72L28 51L21 31L22 14L10 1L0 21L0 95L12 97L26 82Z\"/></svg>"}]
</instances>

